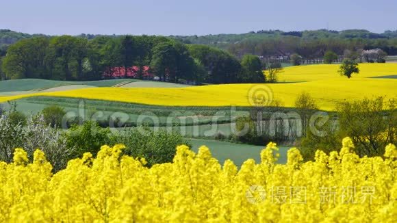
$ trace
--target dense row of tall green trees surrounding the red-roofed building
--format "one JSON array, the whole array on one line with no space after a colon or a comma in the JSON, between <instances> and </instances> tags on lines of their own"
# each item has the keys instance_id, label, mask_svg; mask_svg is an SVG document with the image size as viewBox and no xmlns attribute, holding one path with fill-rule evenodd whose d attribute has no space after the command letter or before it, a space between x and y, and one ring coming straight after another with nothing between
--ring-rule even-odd
<instances>
[{"instance_id":1,"label":"dense row of tall green trees surrounding the red-roofed building","mask_svg":"<svg viewBox=\"0 0 397 223\"><path fill-rule=\"evenodd\" d=\"M1 57L1 79L56 79L66 81L111 78L112 68L144 67L159 81L194 83L264 82L259 57L242 62L227 51L163 36L38 36L11 44Z\"/></svg>"}]
</instances>

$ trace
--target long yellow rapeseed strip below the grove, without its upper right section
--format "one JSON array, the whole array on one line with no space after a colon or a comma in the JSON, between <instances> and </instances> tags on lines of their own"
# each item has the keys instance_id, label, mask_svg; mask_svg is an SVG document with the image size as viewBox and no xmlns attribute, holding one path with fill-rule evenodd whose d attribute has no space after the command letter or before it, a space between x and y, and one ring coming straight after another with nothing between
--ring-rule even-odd
<instances>
[{"instance_id":1,"label":"long yellow rapeseed strip below the grove, without its upper right section","mask_svg":"<svg viewBox=\"0 0 397 223\"><path fill-rule=\"evenodd\" d=\"M394 98L397 96L396 86L397 79L346 78L300 83L225 84L190 88L88 88L64 92L3 96L0 97L0 102L31 96L55 96L144 105L251 106L248 96L254 93L250 90L255 87L264 88L264 92L259 91L259 94L270 94L273 99L282 101L285 107L294 107L296 96L305 90L316 99L320 109L331 111L335 108L335 103L344 100L352 101L376 95Z\"/></svg>"}]
</instances>

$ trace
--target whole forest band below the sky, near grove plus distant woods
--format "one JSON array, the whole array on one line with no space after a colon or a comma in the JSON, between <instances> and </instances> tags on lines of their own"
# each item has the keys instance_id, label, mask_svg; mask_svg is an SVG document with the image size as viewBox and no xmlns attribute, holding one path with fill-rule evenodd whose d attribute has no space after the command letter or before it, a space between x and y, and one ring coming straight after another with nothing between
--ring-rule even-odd
<instances>
[{"instance_id":1,"label":"whole forest band below the sky, near grove plus distant woods","mask_svg":"<svg viewBox=\"0 0 397 223\"><path fill-rule=\"evenodd\" d=\"M45 36L0 29L1 79L132 77L178 83L265 81L266 59L318 60L370 49L397 55L397 31L252 31L208 36ZM256 55L253 56L253 55ZM259 61L259 59L261 61ZM325 62L325 61L324 61ZM331 61L332 62L332 61Z\"/></svg>"}]
</instances>

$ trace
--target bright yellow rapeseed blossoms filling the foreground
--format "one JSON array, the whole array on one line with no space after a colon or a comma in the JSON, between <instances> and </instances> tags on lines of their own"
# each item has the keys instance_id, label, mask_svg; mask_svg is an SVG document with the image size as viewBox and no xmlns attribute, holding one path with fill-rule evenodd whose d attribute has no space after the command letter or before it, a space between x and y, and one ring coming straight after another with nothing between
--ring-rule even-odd
<instances>
[{"instance_id":1,"label":"bright yellow rapeseed blossoms filling the foreground","mask_svg":"<svg viewBox=\"0 0 397 223\"><path fill-rule=\"evenodd\" d=\"M13 163L0 163L0 221L394 222L396 146L384 158L359 158L350 138L342 144L306 163L292 148L281 165L270 143L261 163L240 169L221 166L205 146L197 154L179 146L172 163L151 168L122 156L123 145L103 146L56 174L41 150L29 162L17 148Z\"/></svg>"}]
</instances>

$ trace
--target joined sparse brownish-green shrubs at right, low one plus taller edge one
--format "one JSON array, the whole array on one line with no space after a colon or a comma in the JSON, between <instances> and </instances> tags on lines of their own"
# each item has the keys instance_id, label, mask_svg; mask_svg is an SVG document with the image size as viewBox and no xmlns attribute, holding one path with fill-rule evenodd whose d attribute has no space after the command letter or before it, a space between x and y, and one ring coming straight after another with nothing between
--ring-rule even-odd
<instances>
[{"instance_id":1,"label":"joined sparse brownish-green shrubs at right, low one plus taller edge one","mask_svg":"<svg viewBox=\"0 0 397 223\"><path fill-rule=\"evenodd\" d=\"M329 120L322 131L325 135L314 135L307 131L300 139L303 157L313 159L318 148L330 152L337 148L346 135L351 135L355 150L361 157L380 156L385 146L397 142L397 102L385 101L383 97L344 102L337 105L337 120Z\"/></svg>"}]
</instances>

